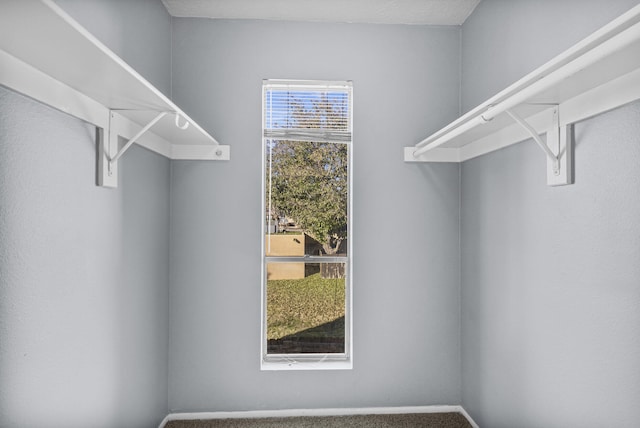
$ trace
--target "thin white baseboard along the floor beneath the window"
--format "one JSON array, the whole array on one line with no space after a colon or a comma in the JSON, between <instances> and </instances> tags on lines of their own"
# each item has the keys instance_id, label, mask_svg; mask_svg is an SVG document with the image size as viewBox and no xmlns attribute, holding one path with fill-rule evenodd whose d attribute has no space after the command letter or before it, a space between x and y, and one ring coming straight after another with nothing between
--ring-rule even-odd
<instances>
[{"instance_id":1,"label":"thin white baseboard along the floor beneath the window","mask_svg":"<svg viewBox=\"0 0 640 428\"><path fill-rule=\"evenodd\" d=\"M479 428L462 406L411 406L411 407L363 407L350 409L287 409L287 410L249 410L237 412L192 412L169 413L160 423L159 428L169 421L198 419L255 419L286 418L295 416L347 416L347 415L383 415L404 413L461 413L473 428Z\"/></svg>"}]
</instances>

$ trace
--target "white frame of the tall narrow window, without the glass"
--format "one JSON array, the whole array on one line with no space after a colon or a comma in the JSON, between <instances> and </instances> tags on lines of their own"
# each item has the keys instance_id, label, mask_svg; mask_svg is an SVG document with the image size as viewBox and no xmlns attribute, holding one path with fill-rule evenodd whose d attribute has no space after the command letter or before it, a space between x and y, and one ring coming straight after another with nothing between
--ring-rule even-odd
<instances>
[{"instance_id":1,"label":"white frame of the tall narrow window, without the glass","mask_svg":"<svg viewBox=\"0 0 640 428\"><path fill-rule=\"evenodd\" d=\"M266 141L270 139L265 136L265 92L269 88L291 90L304 90L326 88L347 90L349 94L349 132L351 138L348 146L348 201L347 201L347 255L340 257L267 257L265 254L265 236L267 226L265 224L266 212ZM267 79L262 84L262 184L260 193L262 194L262 206L260 214L261 230L261 311L260 311L260 369L261 370L350 370L353 368L353 85L351 81L315 81L315 80L274 80ZM272 139L272 137L271 137ZM284 139L284 138L283 138ZM318 140L316 140L318 141ZM322 141L322 140L320 140ZM326 354L267 354L267 263L273 262L305 262L305 263L345 263L345 352Z\"/></svg>"}]
</instances>

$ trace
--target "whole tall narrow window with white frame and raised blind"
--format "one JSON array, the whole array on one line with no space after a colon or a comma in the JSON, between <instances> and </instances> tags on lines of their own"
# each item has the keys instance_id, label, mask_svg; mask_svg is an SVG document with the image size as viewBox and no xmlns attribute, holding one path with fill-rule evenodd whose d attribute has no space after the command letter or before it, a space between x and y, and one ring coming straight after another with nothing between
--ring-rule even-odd
<instances>
[{"instance_id":1,"label":"whole tall narrow window with white frame and raised blind","mask_svg":"<svg viewBox=\"0 0 640 428\"><path fill-rule=\"evenodd\" d=\"M263 370L351 368L350 82L263 82Z\"/></svg>"}]
</instances>

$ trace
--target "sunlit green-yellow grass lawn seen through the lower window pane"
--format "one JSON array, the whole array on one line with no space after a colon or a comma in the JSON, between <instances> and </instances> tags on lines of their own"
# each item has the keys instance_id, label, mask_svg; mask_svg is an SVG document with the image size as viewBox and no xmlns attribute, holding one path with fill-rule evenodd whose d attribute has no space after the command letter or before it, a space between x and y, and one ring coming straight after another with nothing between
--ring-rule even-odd
<instances>
[{"instance_id":1,"label":"sunlit green-yellow grass lawn seen through the lower window pane","mask_svg":"<svg viewBox=\"0 0 640 428\"><path fill-rule=\"evenodd\" d=\"M345 280L323 279L319 273L304 279L267 281L267 339L300 334L323 337L323 325L335 329L344 317ZM328 327L329 328L329 327ZM342 323L344 335L344 322ZM331 332L335 335L335 332Z\"/></svg>"}]
</instances>

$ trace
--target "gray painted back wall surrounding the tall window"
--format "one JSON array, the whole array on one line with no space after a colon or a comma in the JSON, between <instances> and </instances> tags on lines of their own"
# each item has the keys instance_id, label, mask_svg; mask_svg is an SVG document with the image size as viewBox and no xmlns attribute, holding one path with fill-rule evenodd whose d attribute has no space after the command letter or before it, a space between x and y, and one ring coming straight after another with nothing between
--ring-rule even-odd
<instances>
[{"instance_id":1,"label":"gray painted back wall surrounding the tall window","mask_svg":"<svg viewBox=\"0 0 640 428\"><path fill-rule=\"evenodd\" d=\"M174 99L232 151L172 162L170 409L459 403L459 168L402 159L458 114L459 29L173 23ZM264 78L353 80L351 371L259 369Z\"/></svg>"}]
</instances>

